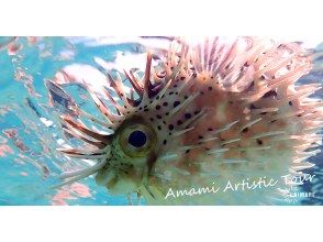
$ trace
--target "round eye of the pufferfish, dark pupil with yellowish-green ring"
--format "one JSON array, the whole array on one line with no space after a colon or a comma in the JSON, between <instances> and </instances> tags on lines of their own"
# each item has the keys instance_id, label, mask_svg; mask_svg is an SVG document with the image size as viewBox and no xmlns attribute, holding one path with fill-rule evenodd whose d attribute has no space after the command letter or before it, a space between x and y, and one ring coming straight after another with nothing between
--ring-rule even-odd
<instances>
[{"instance_id":1,"label":"round eye of the pufferfish, dark pupil with yellowish-green ring","mask_svg":"<svg viewBox=\"0 0 323 242\"><path fill-rule=\"evenodd\" d=\"M157 135L148 124L135 121L120 127L116 135L116 145L129 157L146 156L155 147Z\"/></svg>"}]
</instances>

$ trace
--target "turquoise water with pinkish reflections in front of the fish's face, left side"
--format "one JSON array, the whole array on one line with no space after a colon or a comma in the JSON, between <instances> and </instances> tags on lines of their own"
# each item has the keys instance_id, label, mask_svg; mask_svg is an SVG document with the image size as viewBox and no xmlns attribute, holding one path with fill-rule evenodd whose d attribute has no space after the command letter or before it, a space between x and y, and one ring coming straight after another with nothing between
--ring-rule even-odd
<instances>
[{"instance_id":1,"label":"turquoise water with pinkish reflections in front of the fish's face, left side","mask_svg":"<svg viewBox=\"0 0 323 242\"><path fill-rule=\"evenodd\" d=\"M0 40L4 43L7 37ZM16 44L22 48L15 55L8 55L7 50L0 52L0 144L3 150L0 152L0 205L63 201L68 205L127 205L125 197L109 196L92 178L82 180L80 184L85 186L79 185L76 190L63 193L63 199L55 199L58 193L49 188L59 183L57 176L66 161L55 151L59 129L46 127L40 120L40 117L56 119L48 106L44 80L52 79L66 65L96 66L94 56L109 62L116 51L134 52L137 46L134 43L87 46L88 42L88 38L45 37L32 44L20 37ZM18 78L19 72L24 76ZM80 90L76 88L75 91ZM14 139L7 136L10 130L16 133Z\"/></svg>"}]
</instances>

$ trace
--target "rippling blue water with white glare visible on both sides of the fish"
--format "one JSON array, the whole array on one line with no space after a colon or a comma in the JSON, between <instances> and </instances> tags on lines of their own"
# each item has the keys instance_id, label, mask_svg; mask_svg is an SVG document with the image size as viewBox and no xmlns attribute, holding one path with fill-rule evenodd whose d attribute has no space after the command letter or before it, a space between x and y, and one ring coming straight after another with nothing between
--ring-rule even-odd
<instances>
[{"instance_id":1,"label":"rippling blue water with white glare visible on both sides of the fish","mask_svg":"<svg viewBox=\"0 0 323 242\"><path fill-rule=\"evenodd\" d=\"M59 175L64 170L92 165L91 161L68 160L56 150L66 142L58 116L68 113L67 107L75 102L88 112L98 112L88 101L82 81L99 88L107 69L143 69L146 50L167 50L170 40L1 37L0 205L129 205L131 199L136 199L136 195L133 198L110 195L92 176L53 188L62 182ZM301 77L300 82L323 82L322 51L322 44L315 46L313 70ZM74 73L74 82L62 78L59 70L64 68ZM55 87L48 88L47 80L53 78L59 80L70 96ZM322 89L315 95L323 99ZM315 166L305 172L315 175L314 179L299 189L315 196L303 199L301 205L323 205L323 153L310 157L310 162ZM145 200L141 204L145 205Z\"/></svg>"}]
</instances>

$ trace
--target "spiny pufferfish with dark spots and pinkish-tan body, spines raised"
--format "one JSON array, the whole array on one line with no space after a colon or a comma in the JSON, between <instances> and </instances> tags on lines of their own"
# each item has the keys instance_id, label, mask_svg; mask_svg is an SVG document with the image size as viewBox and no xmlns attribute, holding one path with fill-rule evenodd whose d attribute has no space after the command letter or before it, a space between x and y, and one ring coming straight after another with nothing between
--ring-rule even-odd
<instances>
[{"instance_id":1,"label":"spiny pufferfish with dark spots and pinkish-tan body, spines raised","mask_svg":"<svg viewBox=\"0 0 323 242\"><path fill-rule=\"evenodd\" d=\"M109 193L136 193L148 204L272 204L282 197L277 186L166 197L169 188L224 187L229 180L252 183L259 177L278 180L311 167L307 158L321 144L316 133L323 110L322 101L309 96L320 86L296 85L310 70L310 54L299 45L256 37L172 42L154 67L148 53L143 77L108 74L107 87L114 94L107 88L107 96L99 97L88 87L105 120L77 107L78 116L62 117L65 131L93 148L60 151L98 161L93 167L63 174L64 184L96 174L97 184ZM130 94L124 78L132 85ZM111 134L93 131L75 117Z\"/></svg>"}]
</instances>

